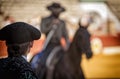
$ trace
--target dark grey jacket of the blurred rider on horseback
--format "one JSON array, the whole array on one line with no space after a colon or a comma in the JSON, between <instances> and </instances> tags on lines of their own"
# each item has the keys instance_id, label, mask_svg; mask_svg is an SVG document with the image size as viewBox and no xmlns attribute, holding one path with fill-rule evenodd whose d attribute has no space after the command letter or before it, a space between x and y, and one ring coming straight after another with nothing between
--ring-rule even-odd
<instances>
[{"instance_id":1,"label":"dark grey jacket of the blurred rider on horseback","mask_svg":"<svg viewBox=\"0 0 120 79\"><path fill-rule=\"evenodd\" d=\"M46 17L46 18L43 18L42 21L41 21L41 32L44 33L46 36L48 35L48 33L50 32L50 30L52 29L53 27L53 20L54 20L54 16L49 16L49 17ZM66 42L68 43L69 41L69 38L68 38L68 33L67 33L67 29L66 29L66 25L65 25L65 22L63 20L60 20L60 23L57 24L57 29L51 39L50 42L52 43L58 43L60 42L60 39L62 37L65 38Z\"/></svg>"}]
</instances>

